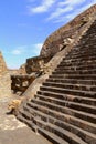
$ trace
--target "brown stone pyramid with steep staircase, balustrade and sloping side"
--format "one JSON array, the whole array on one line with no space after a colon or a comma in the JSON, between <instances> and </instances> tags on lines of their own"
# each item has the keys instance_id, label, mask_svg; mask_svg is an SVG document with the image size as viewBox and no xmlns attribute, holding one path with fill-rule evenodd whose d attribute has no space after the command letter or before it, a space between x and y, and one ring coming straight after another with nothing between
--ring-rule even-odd
<instances>
[{"instance_id":1,"label":"brown stone pyramid with steep staircase, balustrade and sloping side","mask_svg":"<svg viewBox=\"0 0 96 144\"><path fill-rule=\"evenodd\" d=\"M22 89L36 75L17 119L53 144L96 144L96 4L52 33L25 71L11 76Z\"/></svg>"}]
</instances>

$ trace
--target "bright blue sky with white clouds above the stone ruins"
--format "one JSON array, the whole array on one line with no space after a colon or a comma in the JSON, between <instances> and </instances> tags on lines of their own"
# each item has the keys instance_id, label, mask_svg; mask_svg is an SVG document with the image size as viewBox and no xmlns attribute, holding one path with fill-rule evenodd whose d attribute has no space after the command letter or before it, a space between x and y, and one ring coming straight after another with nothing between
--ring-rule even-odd
<instances>
[{"instance_id":1,"label":"bright blue sky with white clouds above the stone ruins","mask_svg":"<svg viewBox=\"0 0 96 144\"><path fill-rule=\"evenodd\" d=\"M0 0L0 51L17 69L40 54L46 37L96 0Z\"/></svg>"}]
</instances>

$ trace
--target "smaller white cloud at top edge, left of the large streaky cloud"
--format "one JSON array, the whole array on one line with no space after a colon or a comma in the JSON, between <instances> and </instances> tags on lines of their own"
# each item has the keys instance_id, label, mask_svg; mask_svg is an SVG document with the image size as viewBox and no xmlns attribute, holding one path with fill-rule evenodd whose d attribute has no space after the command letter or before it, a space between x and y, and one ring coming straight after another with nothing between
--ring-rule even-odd
<instances>
[{"instance_id":1,"label":"smaller white cloud at top edge, left of the large streaky cloud","mask_svg":"<svg viewBox=\"0 0 96 144\"><path fill-rule=\"evenodd\" d=\"M55 2L55 0L42 0L42 3L38 7L29 7L30 13L42 13L46 12L52 4Z\"/></svg>"}]
</instances>

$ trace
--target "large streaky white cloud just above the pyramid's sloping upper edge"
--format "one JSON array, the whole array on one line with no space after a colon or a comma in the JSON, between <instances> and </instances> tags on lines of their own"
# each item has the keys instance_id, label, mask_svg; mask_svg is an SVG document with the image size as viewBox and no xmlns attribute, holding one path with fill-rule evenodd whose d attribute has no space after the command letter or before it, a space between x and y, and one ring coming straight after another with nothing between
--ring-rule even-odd
<instances>
[{"instance_id":1,"label":"large streaky white cloud just above the pyramid's sloping upper edge","mask_svg":"<svg viewBox=\"0 0 96 144\"><path fill-rule=\"evenodd\" d=\"M50 13L50 17L46 19L46 21L52 20L54 23L65 22L73 19L78 13L83 12L95 3L96 0L92 0L90 2L87 2L87 0L65 0L63 2L60 1L56 4L56 9Z\"/></svg>"}]
</instances>

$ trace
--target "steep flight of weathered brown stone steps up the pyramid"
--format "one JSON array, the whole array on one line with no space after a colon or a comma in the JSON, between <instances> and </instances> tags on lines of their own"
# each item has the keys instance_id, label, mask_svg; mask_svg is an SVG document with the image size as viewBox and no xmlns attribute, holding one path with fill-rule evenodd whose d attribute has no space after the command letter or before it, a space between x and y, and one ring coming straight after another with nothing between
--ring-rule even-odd
<instances>
[{"instance_id":1,"label":"steep flight of weathered brown stone steps up the pyramid","mask_svg":"<svg viewBox=\"0 0 96 144\"><path fill-rule=\"evenodd\" d=\"M17 117L53 144L96 144L96 20Z\"/></svg>"}]
</instances>

